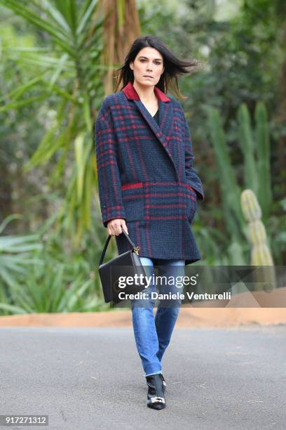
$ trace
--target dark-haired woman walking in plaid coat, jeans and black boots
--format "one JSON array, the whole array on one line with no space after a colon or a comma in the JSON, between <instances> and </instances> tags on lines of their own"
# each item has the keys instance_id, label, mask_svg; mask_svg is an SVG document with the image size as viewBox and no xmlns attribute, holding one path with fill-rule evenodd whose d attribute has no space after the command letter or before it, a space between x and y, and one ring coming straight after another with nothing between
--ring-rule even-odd
<instances>
[{"instance_id":1,"label":"dark-haired woman walking in plaid coat, jeans and black boots","mask_svg":"<svg viewBox=\"0 0 286 430\"><path fill-rule=\"evenodd\" d=\"M193 169L189 125L182 106L166 96L181 96L177 75L196 61L179 60L157 37L139 37L118 74L121 91L104 98L95 124L97 180L102 221L116 237L118 254L130 249L125 230L137 246L147 276L177 277L201 256L191 230L202 183ZM176 278L175 278L176 279ZM182 287L180 287L182 288ZM160 292L182 292L159 285ZM154 317L155 282L134 299L132 324L142 360L147 406L165 408L166 382L161 360L170 343L180 299L159 301Z\"/></svg>"}]
</instances>

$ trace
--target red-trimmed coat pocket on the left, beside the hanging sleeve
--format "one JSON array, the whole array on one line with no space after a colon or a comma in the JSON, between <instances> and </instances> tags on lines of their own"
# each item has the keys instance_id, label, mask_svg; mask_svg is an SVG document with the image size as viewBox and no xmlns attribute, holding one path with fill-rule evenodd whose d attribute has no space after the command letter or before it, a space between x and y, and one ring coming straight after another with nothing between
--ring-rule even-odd
<instances>
[{"instance_id":1,"label":"red-trimmed coat pocket on the left, beside the hanging sleeve","mask_svg":"<svg viewBox=\"0 0 286 430\"><path fill-rule=\"evenodd\" d=\"M144 219L144 188L142 182L121 185L126 221Z\"/></svg>"}]
</instances>

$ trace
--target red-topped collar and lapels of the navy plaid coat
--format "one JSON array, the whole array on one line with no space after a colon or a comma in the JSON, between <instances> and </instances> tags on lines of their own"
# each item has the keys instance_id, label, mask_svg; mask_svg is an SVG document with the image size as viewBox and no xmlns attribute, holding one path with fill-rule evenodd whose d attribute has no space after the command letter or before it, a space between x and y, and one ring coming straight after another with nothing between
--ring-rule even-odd
<instances>
[{"instance_id":1,"label":"red-topped collar and lapels of the navy plaid coat","mask_svg":"<svg viewBox=\"0 0 286 430\"><path fill-rule=\"evenodd\" d=\"M123 88L123 93L125 93L125 96L134 101L135 105L137 106L137 109L142 114L147 124L154 132L155 136L158 138L158 141L163 145L163 148L167 152L168 156L172 161L172 164L175 167L175 171L177 172L177 177L179 178L179 172L177 171L177 167L174 163L174 160L172 159L172 155L169 152L168 140L166 138L166 136L168 136L168 134L170 133L170 127L172 124L172 117L173 117L172 100L168 96L166 96L165 93L163 93L163 91L159 90L156 86L154 88L154 92L156 93L156 96L158 98L159 124L157 124L156 120L151 116L147 108L140 100L137 94L137 91L135 90L132 83L128 82L128 84Z\"/></svg>"}]
</instances>

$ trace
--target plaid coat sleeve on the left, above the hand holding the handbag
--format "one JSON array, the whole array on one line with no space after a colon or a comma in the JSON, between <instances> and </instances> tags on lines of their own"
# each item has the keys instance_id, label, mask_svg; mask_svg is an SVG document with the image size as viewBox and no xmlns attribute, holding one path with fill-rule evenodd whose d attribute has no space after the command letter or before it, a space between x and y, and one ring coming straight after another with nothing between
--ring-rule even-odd
<instances>
[{"instance_id":1,"label":"plaid coat sleeve on the left, above the hand holding the handbag","mask_svg":"<svg viewBox=\"0 0 286 430\"><path fill-rule=\"evenodd\" d=\"M111 219L126 220L116 145L116 133L110 107L104 100L95 122L97 183L104 227L107 227L107 223Z\"/></svg>"}]
</instances>

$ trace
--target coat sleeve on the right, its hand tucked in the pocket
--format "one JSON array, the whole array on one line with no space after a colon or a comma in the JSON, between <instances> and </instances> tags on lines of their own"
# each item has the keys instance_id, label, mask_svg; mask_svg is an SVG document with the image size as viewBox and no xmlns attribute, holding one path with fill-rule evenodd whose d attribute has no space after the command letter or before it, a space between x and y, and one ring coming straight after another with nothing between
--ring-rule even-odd
<instances>
[{"instance_id":1,"label":"coat sleeve on the right, its hand tucked in the pocket","mask_svg":"<svg viewBox=\"0 0 286 430\"><path fill-rule=\"evenodd\" d=\"M184 112L183 112L184 115ZM186 181L191 185L196 191L197 200L204 200L205 195L203 193L203 185L202 181L200 181L200 177L198 176L195 169L193 169L193 150L191 145L191 133L189 129L189 124L186 121L186 117L184 115L184 141L185 141L185 169L186 169Z\"/></svg>"}]
</instances>

